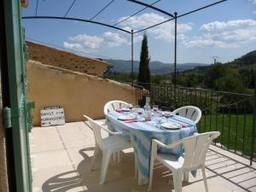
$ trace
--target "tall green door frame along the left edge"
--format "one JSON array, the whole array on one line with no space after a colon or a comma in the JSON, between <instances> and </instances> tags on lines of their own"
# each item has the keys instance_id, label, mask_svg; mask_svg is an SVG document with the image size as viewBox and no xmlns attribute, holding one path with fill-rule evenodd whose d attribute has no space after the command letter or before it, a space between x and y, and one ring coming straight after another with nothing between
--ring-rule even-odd
<instances>
[{"instance_id":1,"label":"tall green door frame along the left edge","mask_svg":"<svg viewBox=\"0 0 256 192\"><path fill-rule=\"evenodd\" d=\"M2 68L8 72L4 80L3 91L5 98L3 107L5 112L10 112L5 117L5 125L10 128L12 137L13 151L9 151L9 157L13 157L15 165L15 179L11 179L15 183L17 192L32 192L32 172L29 151L27 123L28 105L26 102L26 44L24 32L21 27L20 0L3 0L4 8L4 28L5 28L5 46L6 46L6 68ZM6 120L7 119L7 120ZM9 148L11 149L11 148ZM11 160L12 161L12 160ZM12 174L9 172L9 174Z\"/></svg>"}]
</instances>

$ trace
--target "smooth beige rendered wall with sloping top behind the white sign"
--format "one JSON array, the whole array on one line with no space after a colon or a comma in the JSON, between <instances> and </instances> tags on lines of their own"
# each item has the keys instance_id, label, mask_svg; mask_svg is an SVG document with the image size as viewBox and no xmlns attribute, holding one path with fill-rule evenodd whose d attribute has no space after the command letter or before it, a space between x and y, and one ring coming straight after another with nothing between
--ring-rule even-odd
<instances>
[{"instance_id":1,"label":"smooth beige rendered wall with sloping top behind the white sign","mask_svg":"<svg viewBox=\"0 0 256 192\"><path fill-rule=\"evenodd\" d=\"M40 125L40 109L48 106L65 108L66 121L83 120L87 114L102 119L103 107L111 100L136 102L135 90L128 84L67 69L49 67L38 61L27 62L28 101L35 102L33 125Z\"/></svg>"}]
</instances>

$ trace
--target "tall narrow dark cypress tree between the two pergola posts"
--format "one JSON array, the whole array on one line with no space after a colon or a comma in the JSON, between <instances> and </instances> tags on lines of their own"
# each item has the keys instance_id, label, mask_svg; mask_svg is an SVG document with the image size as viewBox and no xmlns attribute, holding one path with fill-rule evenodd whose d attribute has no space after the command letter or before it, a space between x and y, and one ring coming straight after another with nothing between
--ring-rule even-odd
<instances>
[{"instance_id":1,"label":"tall narrow dark cypress tree between the two pergola posts","mask_svg":"<svg viewBox=\"0 0 256 192\"><path fill-rule=\"evenodd\" d=\"M150 89L149 61L150 56L148 55L148 37L147 34L144 33L137 82L139 85L143 85L148 90Z\"/></svg>"}]
</instances>

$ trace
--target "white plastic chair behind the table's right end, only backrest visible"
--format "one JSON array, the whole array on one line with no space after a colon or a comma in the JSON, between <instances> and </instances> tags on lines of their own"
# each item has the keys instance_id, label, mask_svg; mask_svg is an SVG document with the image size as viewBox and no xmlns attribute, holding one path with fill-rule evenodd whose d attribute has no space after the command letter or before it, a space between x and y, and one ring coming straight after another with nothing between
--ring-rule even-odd
<instances>
[{"instance_id":1,"label":"white plastic chair behind the table's right end, only backrest visible","mask_svg":"<svg viewBox=\"0 0 256 192\"><path fill-rule=\"evenodd\" d=\"M182 108L175 109L172 113L178 113L184 118L191 119L197 124L201 119L201 109L195 106L184 106Z\"/></svg>"}]
</instances>

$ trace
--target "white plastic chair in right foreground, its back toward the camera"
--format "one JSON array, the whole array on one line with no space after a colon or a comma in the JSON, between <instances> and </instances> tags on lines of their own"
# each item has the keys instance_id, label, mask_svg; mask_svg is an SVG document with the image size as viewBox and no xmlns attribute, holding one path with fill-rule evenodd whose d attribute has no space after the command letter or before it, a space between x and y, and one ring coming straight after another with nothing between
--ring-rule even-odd
<instances>
[{"instance_id":1,"label":"white plastic chair in right foreground, its back toward the camera","mask_svg":"<svg viewBox=\"0 0 256 192\"><path fill-rule=\"evenodd\" d=\"M159 160L172 171L175 192L182 192L182 180L188 182L189 171L195 169L201 169L205 188L208 192L207 177L205 171L207 150L209 148L209 145L212 143L212 140L219 135L220 132L218 131L206 132L202 134L197 134L192 137L184 138L177 141L177 143L172 143L170 145L160 143L160 141L153 139L148 190L152 189L154 160ZM183 144L184 154L178 159L173 154L157 153L158 147L176 148L180 144Z\"/></svg>"}]
</instances>

